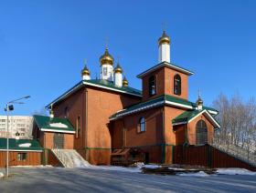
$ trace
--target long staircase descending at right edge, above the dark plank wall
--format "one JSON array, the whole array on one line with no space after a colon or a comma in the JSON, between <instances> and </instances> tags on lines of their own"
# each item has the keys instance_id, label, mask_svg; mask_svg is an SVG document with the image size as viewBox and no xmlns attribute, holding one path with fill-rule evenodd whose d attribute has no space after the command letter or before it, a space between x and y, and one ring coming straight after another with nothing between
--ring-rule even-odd
<instances>
[{"instance_id":1,"label":"long staircase descending at right edge, above the dark plank wall","mask_svg":"<svg viewBox=\"0 0 256 193\"><path fill-rule=\"evenodd\" d=\"M215 147L219 149L220 151L223 151L230 156L236 157L248 164L250 164L253 167L256 167L256 152L248 152L245 148L235 146L235 145L227 145L227 144L218 144L213 143L211 144L212 147Z\"/></svg>"}]
</instances>

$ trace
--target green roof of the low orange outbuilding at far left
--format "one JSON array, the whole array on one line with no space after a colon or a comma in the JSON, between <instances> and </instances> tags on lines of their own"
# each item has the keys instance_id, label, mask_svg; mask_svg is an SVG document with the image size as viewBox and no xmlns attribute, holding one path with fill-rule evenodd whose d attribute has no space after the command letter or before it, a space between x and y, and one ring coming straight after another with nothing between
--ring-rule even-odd
<instances>
[{"instance_id":1,"label":"green roof of the low orange outbuilding at far left","mask_svg":"<svg viewBox=\"0 0 256 193\"><path fill-rule=\"evenodd\" d=\"M6 138L0 138L0 149L6 149ZM26 144L30 144L29 147ZM36 139L15 139L9 138L9 149L19 151L41 151L43 147L40 146Z\"/></svg>"}]
</instances>

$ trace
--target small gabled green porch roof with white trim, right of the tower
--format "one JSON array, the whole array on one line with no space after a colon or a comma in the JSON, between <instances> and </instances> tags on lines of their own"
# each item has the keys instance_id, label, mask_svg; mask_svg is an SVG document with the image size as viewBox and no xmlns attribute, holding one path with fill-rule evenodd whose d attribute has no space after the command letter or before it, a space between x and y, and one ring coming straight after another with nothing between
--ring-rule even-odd
<instances>
[{"instance_id":1,"label":"small gabled green porch roof with white trim, right of the tower","mask_svg":"<svg viewBox=\"0 0 256 193\"><path fill-rule=\"evenodd\" d=\"M214 127L220 127L219 122L214 117L212 117L212 115L208 112L207 109L186 111L172 120L173 126L188 124L194 118L200 115L206 116Z\"/></svg>"}]
</instances>

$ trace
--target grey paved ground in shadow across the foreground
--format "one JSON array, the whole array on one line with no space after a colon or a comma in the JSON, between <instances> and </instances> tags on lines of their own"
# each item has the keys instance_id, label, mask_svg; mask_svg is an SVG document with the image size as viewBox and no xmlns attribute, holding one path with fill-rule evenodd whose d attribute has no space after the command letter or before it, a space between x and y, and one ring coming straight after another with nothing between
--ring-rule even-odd
<instances>
[{"instance_id":1,"label":"grey paved ground in shadow across the foreground","mask_svg":"<svg viewBox=\"0 0 256 193\"><path fill-rule=\"evenodd\" d=\"M4 171L3 169L0 171ZM12 168L0 192L256 192L256 176L179 177L68 168Z\"/></svg>"}]
</instances>

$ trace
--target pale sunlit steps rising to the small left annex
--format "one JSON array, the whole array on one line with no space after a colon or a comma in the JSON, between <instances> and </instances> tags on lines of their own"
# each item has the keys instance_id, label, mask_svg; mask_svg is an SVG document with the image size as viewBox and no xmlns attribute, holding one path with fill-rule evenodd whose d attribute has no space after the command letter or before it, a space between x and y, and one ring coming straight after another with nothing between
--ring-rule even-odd
<instances>
[{"instance_id":1,"label":"pale sunlit steps rising to the small left annex","mask_svg":"<svg viewBox=\"0 0 256 193\"><path fill-rule=\"evenodd\" d=\"M87 168L91 164L84 160L75 149L51 149L64 168Z\"/></svg>"}]
</instances>

